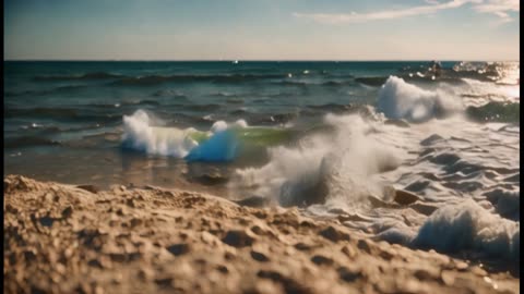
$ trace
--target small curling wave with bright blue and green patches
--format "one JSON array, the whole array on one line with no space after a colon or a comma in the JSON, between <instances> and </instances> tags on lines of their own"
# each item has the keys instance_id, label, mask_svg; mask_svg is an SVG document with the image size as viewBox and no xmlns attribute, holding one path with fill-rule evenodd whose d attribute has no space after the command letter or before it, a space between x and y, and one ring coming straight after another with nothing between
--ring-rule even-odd
<instances>
[{"instance_id":1,"label":"small curling wave with bright blue and green patches","mask_svg":"<svg viewBox=\"0 0 524 294\"><path fill-rule=\"evenodd\" d=\"M216 121L210 131L155 126L144 110L123 117L122 147L188 161L230 161L250 146L271 146L289 139L287 130L249 127L243 120Z\"/></svg>"}]
</instances>

